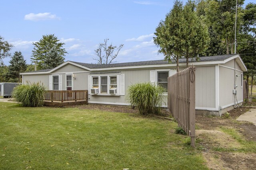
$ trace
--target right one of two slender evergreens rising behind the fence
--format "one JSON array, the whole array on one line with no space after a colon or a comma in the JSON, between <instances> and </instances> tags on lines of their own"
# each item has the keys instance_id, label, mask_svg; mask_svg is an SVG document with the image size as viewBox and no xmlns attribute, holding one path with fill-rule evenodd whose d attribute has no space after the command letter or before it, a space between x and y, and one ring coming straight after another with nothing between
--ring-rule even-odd
<instances>
[{"instance_id":1,"label":"right one of two slender evergreens rising behind the fence","mask_svg":"<svg viewBox=\"0 0 256 170\"><path fill-rule=\"evenodd\" d=\"M183 10L186 24L186 29L184 29L186 39L184 56L186 57L187 67L188 59L204 53L210 42L208 28L196 15L195 7L195 2L188 0Z\"/></svg>"}]
</instances>

